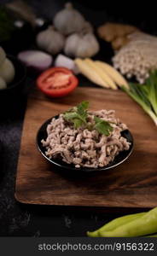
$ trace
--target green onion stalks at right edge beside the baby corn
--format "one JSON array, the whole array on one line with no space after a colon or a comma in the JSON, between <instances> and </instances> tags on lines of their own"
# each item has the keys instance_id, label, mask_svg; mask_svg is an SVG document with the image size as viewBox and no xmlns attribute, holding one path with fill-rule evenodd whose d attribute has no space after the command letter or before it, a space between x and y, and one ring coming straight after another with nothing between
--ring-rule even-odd
<instances>
[{"instance_id":1,"label":"green onion stalks at right edge beside the baby corn","mask_svg":"<svg viewBox=\"0 0 157 256\"><path fill-rule=\"evenodd\" d=\"M157 71L150 73L145 84L129 84L130 89L122 87L137 102L157 125Z\"/></svg>"}]
</instances>

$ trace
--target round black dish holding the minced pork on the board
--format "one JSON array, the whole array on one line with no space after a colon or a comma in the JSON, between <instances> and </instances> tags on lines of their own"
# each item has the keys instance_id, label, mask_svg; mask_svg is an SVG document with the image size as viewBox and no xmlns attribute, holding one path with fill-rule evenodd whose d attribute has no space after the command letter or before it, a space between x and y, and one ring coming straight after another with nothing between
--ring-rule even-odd
<instances>
[{"instance_id":1,"label":"round black dish holding the minced pork on the board","mask_svg":"<svg viewBox=\"0 0 157 256\"><path fill-rule=\"evenodd\" d=\"M52 117L54 118L54 117ZM44 124L39 128L38 130L38 134L37 134L37 146L38 146L38 150L39 152L44 156L45 159L47 159L51 164L61 167L61 169L67 169L68 171L75 171L75 172L98 172L98 171L104 171L104 170L108 170L111 169L115 166L119 166L120 164L122 164L125 160L128 159L128 157L131 155L132 150L133 150L133 137L131 135L131 132L129 130L125 130L121 132L121 135L123 137L125 137L127 139L127 141L129 143L131 143L131 147L129 148L129 150L124 150L121 151L113 160L113 162L111 162L110 164L108 164L108 166L104 166L104 167L99 167L99 168L87 168L87 167L82 167L82 168L75 168L75 166L73 164L67 164L62 160L52 160L49 159L49 157L46 156L45 154L45 148L43 147L43 144L41 143L42 139L46 139L47 137L47 125L49 125L51 119L48 119L46 122L44 122ZM55 116L55 118L58 118L58 115Z\"/></svg>"}]
</instances>

